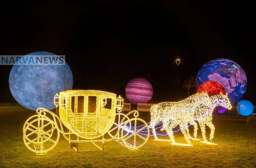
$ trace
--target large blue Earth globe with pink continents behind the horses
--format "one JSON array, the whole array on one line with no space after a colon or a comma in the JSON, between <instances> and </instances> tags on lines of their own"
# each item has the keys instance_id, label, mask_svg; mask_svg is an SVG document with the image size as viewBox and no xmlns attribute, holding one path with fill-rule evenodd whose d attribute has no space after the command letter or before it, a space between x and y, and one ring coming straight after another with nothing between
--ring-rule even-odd
<instances>
[{"instance_id":1,"label":"large blue Earth globe with pink continents behind the horses","mask_svg":"<svg viewBox=\"0 0 256 168\"><path fill-rule=\"evenodd\" d=\"M243 97L247 88L245 71L234 61L229 59L214 59L204 64L197 73L198 85L206 81L221 84L228 93L231 103Z\"/></svg>"}]
</instances>

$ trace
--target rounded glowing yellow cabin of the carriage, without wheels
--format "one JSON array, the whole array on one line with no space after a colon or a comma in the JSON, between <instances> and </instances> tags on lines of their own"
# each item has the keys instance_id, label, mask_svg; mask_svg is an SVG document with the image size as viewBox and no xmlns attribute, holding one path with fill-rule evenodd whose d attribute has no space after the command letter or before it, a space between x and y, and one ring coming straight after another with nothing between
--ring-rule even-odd
<instances>
[{"instance_id":1,"label":"rounded glowing yellow cabin of the carriage, without wheels","mask_svg":"<svg viewBox=\"0 0 256 168\"><path fill-rule=\"evenodd\" d=\"M104 135L115 121L116 94L99 90L60 92L59 116L71 132L82 138Z\"/></svg>"}]
</instances>

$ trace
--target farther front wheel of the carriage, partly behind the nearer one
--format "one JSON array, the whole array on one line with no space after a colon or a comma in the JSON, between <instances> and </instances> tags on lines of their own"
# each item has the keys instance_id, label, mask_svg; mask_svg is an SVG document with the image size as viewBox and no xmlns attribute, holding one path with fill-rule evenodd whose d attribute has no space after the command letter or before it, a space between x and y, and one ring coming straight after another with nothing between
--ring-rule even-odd
<instances>
[{"instance_id":1,"label":"farther front wheel of the carriage, partly behind the nearer one","mask_svg":"<svg viewBox=\"0 0 256 168\"><path fill-rule=\"evenodd\" d=\"M115 122L113 123L113 126L110 128L110 130L107 131L107 133L113 138L115 137L115 139L121 139L121 132L118 132L118 128L121 127L121 129L124 130L130 130L131 129L131 122L128 116L126 116L123 113L116 113L116 117L115 117ZM122 119L125 117L123 123L121 123ZM124 126L124 123L127 124ZM127 136L129 134L129 132L127 131L126 133L124 133L123 137Z\"/></svg>"}]
</instances>

